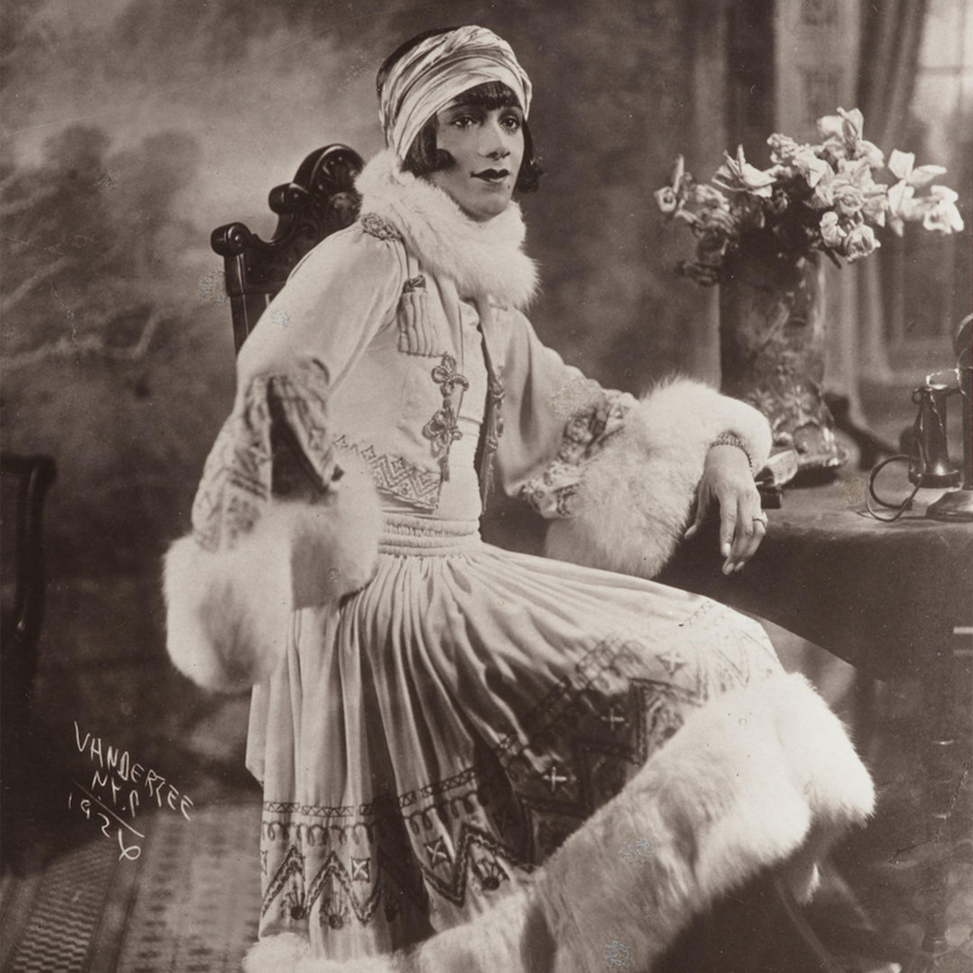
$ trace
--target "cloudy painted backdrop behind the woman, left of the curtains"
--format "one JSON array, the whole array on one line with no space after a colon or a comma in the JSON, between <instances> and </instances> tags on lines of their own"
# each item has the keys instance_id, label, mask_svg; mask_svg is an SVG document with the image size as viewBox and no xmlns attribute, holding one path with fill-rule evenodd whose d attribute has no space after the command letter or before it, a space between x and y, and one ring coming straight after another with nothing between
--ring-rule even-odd
<instances>
[{"instance_id":1,"label":"cloudy painted backdrop behind the woman, left of the curtains","mask_svg":"<svg viewBox=\"0 0 973 973\"><path fill-rule=\"evenodd\" d=\"M534 79L548 174L524 207L544 338L631 390L712 361L701 341L711 294L672 273L689 241L652 198L693 148L698 114L713 111L694 105L706 24L672 0L384 6L9 10L4 448L58 466L41 666L56 703L42 719L84 716L160 760L212 745L197 733L198 695L164 656L158 592L160 556L189 523L233 401L230 307L209 233L242 220L269 236L270 188L319 145L377 151L378 64L430 23L488 24Z\"/></svg>"}]
</instances>

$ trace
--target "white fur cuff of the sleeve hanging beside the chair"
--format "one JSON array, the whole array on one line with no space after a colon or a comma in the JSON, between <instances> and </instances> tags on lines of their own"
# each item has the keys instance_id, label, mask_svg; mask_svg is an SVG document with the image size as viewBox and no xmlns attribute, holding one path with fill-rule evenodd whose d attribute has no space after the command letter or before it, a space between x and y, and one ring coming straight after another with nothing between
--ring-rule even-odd
<instances>
[{"instance_id":1,"label":"white fur cuff of the sleeve hanging beside the chair","mask_svg":"<svg viewBox=\"0 0 973 973\"><path fill-rule=\"evenodd\" d=\"M370 475L345 474L316 504L274 503L230 551L192 536L165 555L166 648L206 689L238 692L268 678L297 608L337 601L375 572L381 512Z\"/></svg>"}]
</instances>

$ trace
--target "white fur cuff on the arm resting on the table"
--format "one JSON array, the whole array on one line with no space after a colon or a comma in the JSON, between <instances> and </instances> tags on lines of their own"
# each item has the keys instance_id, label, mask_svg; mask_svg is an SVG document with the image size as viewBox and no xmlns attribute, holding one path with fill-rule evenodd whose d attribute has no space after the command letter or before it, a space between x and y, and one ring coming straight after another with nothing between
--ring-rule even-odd
<instances>
[{"instance_id":1,"label":"white fur cuff on the arm resting on the table","mask_svg":"<svg viewBox=\"0 0 973 973\"><path fill-rule=\"evenodd\" d=\"M577 513L550 524L545 554L654 578L689 523L706 451L727 431L754 470L764 465L771 427L756 409L688 378L659 385L585 464Z\"/></svg>"}]
</instances>

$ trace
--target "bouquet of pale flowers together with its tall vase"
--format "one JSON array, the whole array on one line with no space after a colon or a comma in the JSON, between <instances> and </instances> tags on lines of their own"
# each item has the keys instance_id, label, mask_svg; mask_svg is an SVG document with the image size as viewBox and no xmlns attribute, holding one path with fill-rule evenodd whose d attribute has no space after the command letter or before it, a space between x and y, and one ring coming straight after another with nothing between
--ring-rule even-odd
<instances>
[{"instance_id":1,"label":"bouquet of pale flowers together with its tall vase","mask_svg":"<svg viewBox=\"0 0 973 973\"><path fill-rule=\"evenodd\" d=\"M695 259L677 270L720 287L722 388L771 420L781 468L834 470L844 452L824 403L825 278L821 255L837 266L880 245L877 229L905 223L950 234L963 229L956 194L933 185L946 170L883 153L862 138L858 109L817 122L821 141L768 139L771 166L751 165L740 148L725 154L711 184L698 183L680 157L656 200L696 236ZM877 181L887 168L893 180ZM812 479L812 478L811 478Z\"/></svg>"}]
</instances>

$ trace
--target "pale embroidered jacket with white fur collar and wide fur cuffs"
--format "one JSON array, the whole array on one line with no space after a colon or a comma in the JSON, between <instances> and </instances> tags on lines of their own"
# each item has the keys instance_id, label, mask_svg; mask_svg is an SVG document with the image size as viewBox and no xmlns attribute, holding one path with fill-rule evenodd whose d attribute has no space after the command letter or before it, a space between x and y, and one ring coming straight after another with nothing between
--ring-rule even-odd
<instances>
[{"instance_id":1,"label":"pale embroidered jacket with white fur collar and wide fur cuffs","mask_svg":"<svg viewBox=\"0 0 973 973\"><path fill-rule=\"evenodd\" d=\"M373 484L437 509L454 433L430 444L446 386L427 377L460 354L461 301L477 307L489 364L483 492L498 482L552 519L550 557L652 578L688 523L709 445L736 434L754 472L770 451L767 420L702 382L670 379L636 401L545 347L520 310L536 271L516 204L474 223L387 152L358 187L359 222L306 256L241 349L193 533L166 556L170 658L211 689L266 678L292 609L365 584L381 527ZM308 473L297 501L274 489L281 440Z\"/></svg>"}]
</instances>

